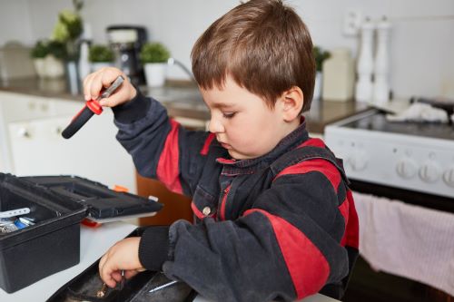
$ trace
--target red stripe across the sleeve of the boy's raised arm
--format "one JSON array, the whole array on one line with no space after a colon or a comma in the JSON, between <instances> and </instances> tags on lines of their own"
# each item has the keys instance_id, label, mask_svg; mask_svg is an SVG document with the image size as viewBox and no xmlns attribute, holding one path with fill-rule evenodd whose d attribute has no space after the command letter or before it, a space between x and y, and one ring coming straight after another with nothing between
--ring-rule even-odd
<instances>
[{"instance_id":1,"label":"red stripe across the sleeve of the boy's raised arm","mask_svg":"<svg viewBox=\"0 0 454 302\"><path fill-rule=\"evenodd\" d=\"M170 120L171 131L167 134L167 138L164 142L163 151L158 161L158 168L156 175L158 180L161 180L163 184L173 192L182 193L182 183L180 182L180 170L178 163L179 157L179 146L178 146L178 126L179 123Z\"/></svg>"}]
</instances>

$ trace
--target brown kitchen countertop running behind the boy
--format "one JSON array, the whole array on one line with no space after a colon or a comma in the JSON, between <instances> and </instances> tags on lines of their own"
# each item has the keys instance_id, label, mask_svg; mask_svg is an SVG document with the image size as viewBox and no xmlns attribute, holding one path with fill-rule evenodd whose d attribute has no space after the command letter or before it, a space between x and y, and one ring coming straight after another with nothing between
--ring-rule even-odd
<instances>
[{"instance_id":1,"label":"brown kitchen countertop running behind the boy","mask_svg":"<svg viewBox=\"0 0 454 302\"><path fill-rule=\"evenodd\" d=\"M143 86L140 89L145 95L153 96L162 102L173 117L200 121L199 125L210 119L210 112L205 107L202 95L195 85L174 82L162 88ZM82 94L74 95L67 92L64 78L56 80L27 78L0 82L0 92L2 91L84 102ZM368 105L363 102L313 101L311 111L305 113L308 129L313 133L323 133L327 124L363 112L368 108Z\"/></svg>"}]
</instances>

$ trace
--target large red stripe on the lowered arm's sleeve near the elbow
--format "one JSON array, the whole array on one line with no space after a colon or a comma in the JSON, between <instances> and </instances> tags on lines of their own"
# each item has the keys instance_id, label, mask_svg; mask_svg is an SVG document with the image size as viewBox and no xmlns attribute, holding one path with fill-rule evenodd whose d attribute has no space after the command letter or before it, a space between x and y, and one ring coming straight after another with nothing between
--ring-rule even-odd
<instances>
[{"instance_id":1,"label":"large red stripe on the lowered arm's sleeve near the elbow","mask_svg":"<svg viewBox=\"0 0 454 302\"><path fill-rule=\"evenodd\" d=\"M260 212L270 222L298 299L313 295L321 289L330 275L330 266L319 248L288 221L262 209L249 209L245 215Z\"/></svg>"}]
</instances>

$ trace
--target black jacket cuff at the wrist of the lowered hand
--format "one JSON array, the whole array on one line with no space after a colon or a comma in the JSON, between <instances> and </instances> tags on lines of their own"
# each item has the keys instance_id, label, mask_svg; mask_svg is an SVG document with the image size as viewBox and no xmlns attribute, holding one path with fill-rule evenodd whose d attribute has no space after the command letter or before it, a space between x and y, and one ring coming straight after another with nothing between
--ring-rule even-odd
<instances>
[{"instance_id":1,"label":"black jacket cuff at the wrist of the lowered hand","mask_svg":"<svg viewBox=\"0 0 454 302\"><path fill-rule=\"evenodd\" d=\"M139 243L139 260L143 268L159 271L169 254L169 226L145 229Z\"/></svg>"}]
</instances>

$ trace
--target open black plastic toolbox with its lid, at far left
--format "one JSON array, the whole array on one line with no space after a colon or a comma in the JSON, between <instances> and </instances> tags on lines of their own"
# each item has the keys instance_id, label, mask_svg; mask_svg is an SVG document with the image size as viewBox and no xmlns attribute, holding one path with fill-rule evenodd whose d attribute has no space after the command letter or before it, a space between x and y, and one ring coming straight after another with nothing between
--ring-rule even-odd
<instances>
[{"instance_id":1,"label":"open black plastic toolbox with its lid, at far left","mask_svg":"<svg viewBox=\"0 0 454 302\"><path fill-rule=\"evenodd\" d=\"M80 222L153 215L161 203L74 176L0 173L0 212L29 208L35 225L0 233L0 287L13 293L80 261Z\"/></svg>"}]
</instances>

